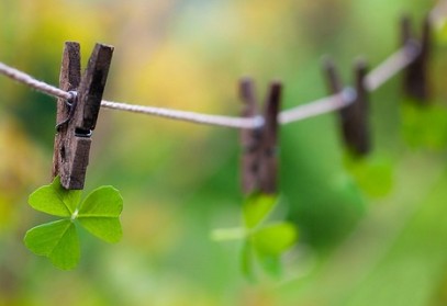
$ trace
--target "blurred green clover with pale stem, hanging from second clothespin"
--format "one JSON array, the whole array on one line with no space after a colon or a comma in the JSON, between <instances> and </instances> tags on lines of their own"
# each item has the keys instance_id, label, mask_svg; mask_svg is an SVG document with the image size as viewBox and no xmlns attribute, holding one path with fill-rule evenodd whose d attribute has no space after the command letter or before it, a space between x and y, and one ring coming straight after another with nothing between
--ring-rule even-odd
<instances>
[{"instance_id":1,"label":"blurred green clover with pale stem, hanging from second clothespin","mask_svg":"<svg viewBox=\"0 0 447 306\"><path fill-rule=\"evenodd\" d=\"M281 274L281 254L298 239L297 227L288 222L265 224L278 205L278 196L250 194L243 205L243 227L213 231L216 240L243 239L241 268L244 275L255 280L256 264L272 276Z\"/></svg>"}]
</instances>

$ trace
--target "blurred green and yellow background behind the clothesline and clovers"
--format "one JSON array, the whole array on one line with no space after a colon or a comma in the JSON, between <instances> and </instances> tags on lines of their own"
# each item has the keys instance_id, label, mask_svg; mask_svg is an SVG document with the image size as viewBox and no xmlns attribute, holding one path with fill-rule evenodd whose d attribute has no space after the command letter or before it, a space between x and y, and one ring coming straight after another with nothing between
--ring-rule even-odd
<instances>
[{"instance_id":1,"label":"blurred green and yellow background behind the clothesline and clovers","mask_svg":"<svg viewBox=\"0 0 447 306\"><path fill-rule=\"evenodd\" d=\"M428 0L1 0L0 60L57 84L65 41L115 46L104 99L205 113L241 111L237 80L259 97L284 83L283 109L325 95L321 57L346 82L420 25ZM438 24L442 26L442 24ZM420 26L416 26L420 30ZM436 29L433 106L409 104L400 77L371 95L375 151L349 160L337 116L280 129L281 209L300 228L279 280L244 280L237 226L238 132L102 110L87 190L124 197L124 237L81 233L78 269L58 271L22 243L45 218L27 195L49 182L54 99L0 78L0 305L447 305L447 39Z\"/></svg>"}]
</instances>

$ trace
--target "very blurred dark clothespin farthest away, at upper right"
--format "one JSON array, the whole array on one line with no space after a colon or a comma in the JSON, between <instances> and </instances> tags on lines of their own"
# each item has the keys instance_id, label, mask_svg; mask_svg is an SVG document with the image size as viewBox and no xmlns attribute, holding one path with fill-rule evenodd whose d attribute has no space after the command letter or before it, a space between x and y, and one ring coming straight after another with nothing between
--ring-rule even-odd
<instances>
[{"instance_id":1,"label":"very blurred dark clothespin farthest away, at upper right","mask_svg":"<svg viewBox=\"0 0 447 306\"><path fill-rule=\"evenodd\" d=\"M417 38L412 29L412 20L405 15L401 20L401 39L403 46L416 44L420 47L415 60L404 71L403 90L406 95L414 98L420 104L428 102L428 59L431 55L429 18L425 18L421 38Z\"/></svg>"}]
</instances>

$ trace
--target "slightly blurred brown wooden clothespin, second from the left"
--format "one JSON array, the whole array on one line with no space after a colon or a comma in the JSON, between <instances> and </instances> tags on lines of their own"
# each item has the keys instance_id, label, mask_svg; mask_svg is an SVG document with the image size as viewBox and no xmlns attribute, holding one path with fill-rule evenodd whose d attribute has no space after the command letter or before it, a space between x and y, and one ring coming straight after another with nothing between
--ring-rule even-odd
<instances>
[{"instance_id":1,"label":"slightly blurred brown wooden clothespin, second from the left","mask_svg":"<svg viewBox=\"0 0 447 306\"><path fill-rule=\"evenodd\" d=\"M264 125L255 129L242 129L242 186L246 194L277 191L278 172L278 112L281 100L281 83L272 82L267 93L262 114L259 114L252 79L239 82L239 97L245 104L244 117L261 116Z\"/></svg>"}]
</instances>

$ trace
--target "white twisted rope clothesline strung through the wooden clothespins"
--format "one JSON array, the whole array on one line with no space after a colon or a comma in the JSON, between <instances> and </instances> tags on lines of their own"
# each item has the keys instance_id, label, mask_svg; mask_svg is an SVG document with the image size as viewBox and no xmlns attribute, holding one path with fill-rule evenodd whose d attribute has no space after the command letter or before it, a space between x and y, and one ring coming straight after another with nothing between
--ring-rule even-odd
<instances>
[{"instance_id":1,"label":"white twisted rope clothesline strung through the wooden clothespins","mask_svg":"<svg viewBox=\"0 0 447 306\"><path fill-rule=\"evenodd\" d=\"M402 69L412 64L420 52L421 47L416 42L405 44L366 76L364 82L365 88L368 91L377 90L384 82L387 82ZM16 68L10 67L1 61L0 73L47 95L62 98L64 100L71 99L71 94L69 92L60 90L57 87L54 87L46 82L40 81L34 77ZM290 124L297 121L343 109L353 103L355 101L355 90L351 88L345 88L337 94L324 97L322 99L308 102L290 110L284 110L278 114L278 120L280 124ZM225 126L232 128L257 128L264 124L264 120L261 116L246 118L236 116L212 115L172 109L112 102L105 100L101 101L101 106L105 109L142 113L171 120L179 120L205 125Z\"/></svg>"}]
</instances>

